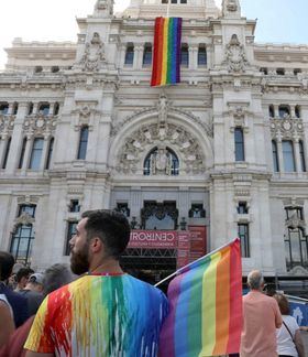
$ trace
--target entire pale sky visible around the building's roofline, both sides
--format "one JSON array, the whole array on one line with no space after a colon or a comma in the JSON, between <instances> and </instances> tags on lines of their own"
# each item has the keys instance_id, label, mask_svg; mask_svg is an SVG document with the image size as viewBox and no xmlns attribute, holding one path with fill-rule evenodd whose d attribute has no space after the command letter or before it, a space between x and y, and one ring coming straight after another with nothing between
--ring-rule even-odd
<instances>
[{"instance_id":1,"label":"entire pale sky visible around the building's roofline, both sides","mask_svg":"<svg viewBox=\"0 0 308 357\"><path fill-rule=\"evenodd\" d=\"M221 0L215 0L218 6ZM24 41L77 40L75 17L92 12L96 0L0 0L0 68L3 47L14 37ZM116 11L130 0L116 0ZM241 0L242 14L257 18L256 42L308 44L308 0Z\"/></svg>"}]
</instances>

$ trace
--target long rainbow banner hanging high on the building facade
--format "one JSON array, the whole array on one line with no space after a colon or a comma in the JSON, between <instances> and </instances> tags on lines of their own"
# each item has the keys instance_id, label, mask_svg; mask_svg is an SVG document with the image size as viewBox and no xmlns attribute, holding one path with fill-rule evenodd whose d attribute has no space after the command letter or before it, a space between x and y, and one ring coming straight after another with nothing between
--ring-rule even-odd
<instances>
[{"instance_id":1,"label":"long rainbow banner hanging high on the building facade","mask_svg":"<svg viewBox=\"0 0 308 357\"><path fill-rule=\"evenodd\" d=\"M156 18L151 86L180 82L182 18Z\"/></svg>"}]
</instances>

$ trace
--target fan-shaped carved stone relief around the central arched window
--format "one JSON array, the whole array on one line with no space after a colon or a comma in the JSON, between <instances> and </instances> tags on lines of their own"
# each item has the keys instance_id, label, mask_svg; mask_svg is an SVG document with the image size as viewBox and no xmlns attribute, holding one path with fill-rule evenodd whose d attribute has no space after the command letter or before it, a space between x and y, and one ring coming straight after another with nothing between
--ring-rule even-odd
<instances>
[{"instance_id":1,"label":"fan-shaped carved stone relief around the central arched window","mask_svg":"<svg viewBox=\"0 0 308 357\"><path fill-rule=\"evenodd\" d=\"M162 148L162 142L164 147L174 148L175 152L180 153L183 158L183 162L180 162L182 172L195 174L205 172L205 158L196 138L193 138L183 127L175 125L157 127L155 123L141 127L125 140L120 150L117 171L135 173L143 169L141 160L144 158L144 151L147 150L148 145ZM167 174L167 161L165 159L166 155L162 153L160 160L155 159L153 164L155 163L157 170Z\"/></svg>"}]
</instances>

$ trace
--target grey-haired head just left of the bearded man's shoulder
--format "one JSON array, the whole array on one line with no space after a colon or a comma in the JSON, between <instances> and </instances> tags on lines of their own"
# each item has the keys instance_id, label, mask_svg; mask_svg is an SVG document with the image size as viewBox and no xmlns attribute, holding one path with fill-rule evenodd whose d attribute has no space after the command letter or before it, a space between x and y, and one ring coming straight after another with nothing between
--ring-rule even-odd
<instances>
[{"instance_id":1,"label":"grey-haired head just left of the bearded man's shoulder","mask_svg":"<svg viewBox=\"0 0 308 357\"><path fill-rule=\"evenodd\" d=\"M48 295L54 290L70 283L74 275L66 264L53 264L44 272L43 294Z\"/></svg>"}]
</instances>

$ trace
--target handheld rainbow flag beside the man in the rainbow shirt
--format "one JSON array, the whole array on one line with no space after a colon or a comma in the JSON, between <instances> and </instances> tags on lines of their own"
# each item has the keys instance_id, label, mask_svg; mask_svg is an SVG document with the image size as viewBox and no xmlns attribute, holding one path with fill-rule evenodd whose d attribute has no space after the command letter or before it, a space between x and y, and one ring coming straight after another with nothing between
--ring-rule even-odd
<instances>
[{"instance_id":1,"label":"handheld rainbow flag beside the man in the rainbow shirt","mask_svg":"<svg viewBox=\"0 0 308 357\"><path fill-rule=\"evenodd\" d=\"M169 284L161 357L218 356L240 350L242 269L239 239L193 263Z\"/></svg>"}]
</instances>

